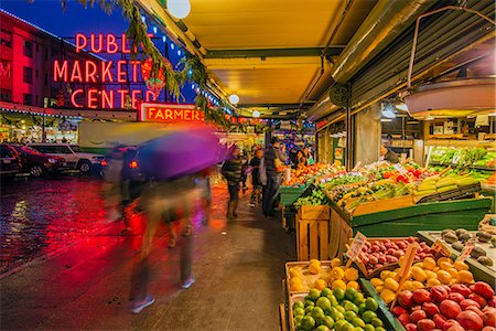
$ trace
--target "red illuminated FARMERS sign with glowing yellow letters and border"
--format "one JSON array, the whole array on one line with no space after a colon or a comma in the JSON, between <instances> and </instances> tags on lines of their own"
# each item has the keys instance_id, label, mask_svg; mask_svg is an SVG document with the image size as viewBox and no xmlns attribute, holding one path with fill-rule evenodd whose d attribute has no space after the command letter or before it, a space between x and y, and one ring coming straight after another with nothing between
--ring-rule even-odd
<instances>
[{"instance_id":1,"label":"red illuminated FARMERS sign with glowing yellow letters and border","mask_svg":"<svg viewBox=\"0 0 496 331\"><path fill-rule=\"evenodd\" d=\"M205 121L205 114L195 105L166 105L143 103L141 105L141 121L179 122Z\"/></svg>"}]
</instances>

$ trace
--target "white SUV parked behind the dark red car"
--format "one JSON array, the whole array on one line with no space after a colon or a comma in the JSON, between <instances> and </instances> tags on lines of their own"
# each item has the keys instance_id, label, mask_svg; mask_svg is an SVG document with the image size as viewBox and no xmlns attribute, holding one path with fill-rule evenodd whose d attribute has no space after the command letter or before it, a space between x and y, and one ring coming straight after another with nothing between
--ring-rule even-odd
<instances>
[{"instance_id":1,"label":"white SUV parked behind the dark red car","mask_svg":"<svg viewBox=\"0 0 496 331\"><path fill-rule=\"evenodd\" d=\"M35 150L65 159L67 167L77 169L83 173L91 170L98 172L101 168L104 156L83 152L77 145L69 143L29 143Z\"/></svg>"}]
</instances>

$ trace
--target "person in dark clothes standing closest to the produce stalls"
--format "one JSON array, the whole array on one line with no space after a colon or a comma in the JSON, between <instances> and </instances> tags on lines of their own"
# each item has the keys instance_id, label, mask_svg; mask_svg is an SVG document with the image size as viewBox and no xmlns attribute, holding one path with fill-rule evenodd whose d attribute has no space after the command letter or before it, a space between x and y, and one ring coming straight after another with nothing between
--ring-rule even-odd
<instances>
[{"instance_id":1,"label":"person in dark clothes standing closest to the produce stalls","mask_svg":"<svg viewBox=\"0 0 496 331\"><path fill-rule=\"evenodd\" d=\"M274 216L274 200L279 191L279 186L282 181L282 172L284 171L284 164L287 157L281 151L280 141L277 137L272 138L272 143L267 147L263 164L267 173L267 188L265 190L262 211L263 215L268 218Z\"/></svg>"}]
</instances>

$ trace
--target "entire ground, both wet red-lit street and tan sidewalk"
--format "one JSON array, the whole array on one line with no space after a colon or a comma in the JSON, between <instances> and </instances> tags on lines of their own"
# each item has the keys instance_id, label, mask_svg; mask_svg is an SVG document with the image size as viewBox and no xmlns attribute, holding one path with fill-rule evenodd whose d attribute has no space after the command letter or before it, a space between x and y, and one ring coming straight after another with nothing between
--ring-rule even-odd
<instances>
[{"instance_id":1,"label":"entire ground, both wet red-lit street and tan sidewalk","mask_svg":"<svg viewBox=\"0 0 496 331\"><path fill-rule=\"evenodd\" d=\"M193 273L179 286L177 247L155 237L150 292L157 302L129 312L132 267L141 236L107 224L101 182L87 177L14 182L2 188L2 330L276 330L283 301L283 264L294 259L293 236L259 207L240 201L226 223L225 184L214 185L209 213L193 217ZM207 218L205 216L208 216ZM133 226L142 217L133 217ZM29 318L26 318L29 317Z\"/></svg>"}]
</instances>

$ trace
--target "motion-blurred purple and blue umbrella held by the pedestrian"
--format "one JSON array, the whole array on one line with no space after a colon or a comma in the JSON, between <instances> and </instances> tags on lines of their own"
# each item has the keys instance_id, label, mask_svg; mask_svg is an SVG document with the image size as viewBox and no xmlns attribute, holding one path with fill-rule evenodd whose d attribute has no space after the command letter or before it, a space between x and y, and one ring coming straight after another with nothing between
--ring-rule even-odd
<instances>
[{"instance_id":1,"label":"motion-blurred purple and blue umbrella held by the pedestrian","mask_svg":"<svg viewBox=\"0 0 496 331\"><path fill-rule=\"evenodd\" d=\"M166 180L194 174L226 159L227 151L206 127L174 130L150 140L138 153L147 178Z\"/></svg>"}]
</instances>

